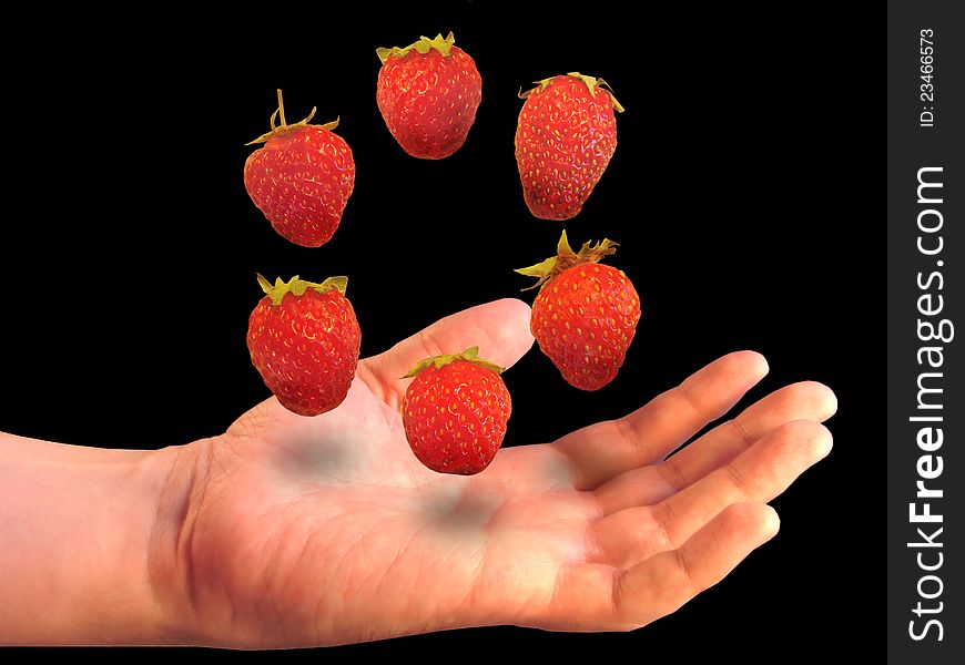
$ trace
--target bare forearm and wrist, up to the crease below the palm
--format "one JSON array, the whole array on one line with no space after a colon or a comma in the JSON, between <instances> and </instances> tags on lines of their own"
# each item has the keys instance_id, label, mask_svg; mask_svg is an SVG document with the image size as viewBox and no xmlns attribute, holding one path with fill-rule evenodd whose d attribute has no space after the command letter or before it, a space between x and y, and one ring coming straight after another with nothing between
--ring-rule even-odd
<instances>
[{"instance_id":1,"label":"bare forearm and wrist, up to the crease below the palm","mask_svg":"<svg viewBox=\"0 0 965 665\"><path fill-rule=\"evenodd\" d=\"M190 642L176 553L204 447L102 450L0 434L0 643Z\"/></svg>"}]
</instances>

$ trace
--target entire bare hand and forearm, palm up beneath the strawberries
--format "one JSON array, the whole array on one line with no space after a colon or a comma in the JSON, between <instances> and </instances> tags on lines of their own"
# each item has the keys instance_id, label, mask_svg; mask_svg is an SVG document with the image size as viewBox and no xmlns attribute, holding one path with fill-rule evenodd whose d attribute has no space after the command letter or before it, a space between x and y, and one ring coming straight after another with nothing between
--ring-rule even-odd
<instances>
[{"instance_id":1,"label":"entire bare hand and forearm, palm up beneath the strawberries","mask_svg":"<svg viewBox=\"0 0 965 665\"><path fill-rule=\"evenodd\" d=\"M332 645L463 626L626 631L722 580L779 525L765 504L831 449L825 387L784 387L667 456L768 371L724 356L624 418L424 468L398 405L415 361L511 366L506 299L360 361L316 418L272 398L158 451L0 434L0 643Z\"/></svg>"}]
</instances>

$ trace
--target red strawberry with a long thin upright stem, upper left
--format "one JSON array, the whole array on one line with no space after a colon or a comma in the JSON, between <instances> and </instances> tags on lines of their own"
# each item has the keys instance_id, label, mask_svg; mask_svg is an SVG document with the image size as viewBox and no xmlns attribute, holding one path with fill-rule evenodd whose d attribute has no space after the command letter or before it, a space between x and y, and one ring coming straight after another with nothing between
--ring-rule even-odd
<instances>
[{"instance_id":1,"label":"red strawberry with a long thin upright stem, upper left","mask_svg":"<svg viewBox=\"0 0 965 665\"><path fill-rule=\"evenodd\" d=\"M333 134L338 121L309 125L308 117L285 124L278 109L272 131L248 143L264 143L245 162L245 190L278 234L303 247L321 247L335 234L355 186L355 161L345 139ZM275 126L275 116L282 126Z\"/></svg>"}]
</instances>

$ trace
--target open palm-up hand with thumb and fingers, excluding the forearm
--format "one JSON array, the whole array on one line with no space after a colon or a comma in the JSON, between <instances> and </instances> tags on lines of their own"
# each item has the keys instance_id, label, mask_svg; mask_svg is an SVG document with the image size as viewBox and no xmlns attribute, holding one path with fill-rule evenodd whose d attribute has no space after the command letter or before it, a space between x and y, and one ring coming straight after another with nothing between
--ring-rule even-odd
<instances>
[{"instance_id":1,"label":"open palm-up hand with thumb and fingers, excluding the forearm","mask_svg":"<svg viewBox=\"0 0 965 665\"><path fill-rule=\"evenodd\" d=\"M272 398L182 449L169 494L183 520L151 553L162 562L155 592L190 617L182 640L263 647L491 624L642 626L772 538L778 516L764 502L831 449L819 421L834 396L803 382L668 459L765 375L744 351L626 418L501 450L478 475L424 468L405 440L399 377L474 345L509 367L531 344L521 301L475 307L363 360L334 411L303 418Z\"/></svg>"}]
</instances>

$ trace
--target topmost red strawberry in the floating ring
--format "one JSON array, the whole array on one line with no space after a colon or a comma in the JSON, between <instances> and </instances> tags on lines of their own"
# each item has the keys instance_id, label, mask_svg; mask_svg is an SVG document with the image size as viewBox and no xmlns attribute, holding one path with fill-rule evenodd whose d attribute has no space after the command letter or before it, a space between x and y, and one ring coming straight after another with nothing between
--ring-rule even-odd
<instances>
[{"instance_id":1,"label":"topmost red strawberry in the floating ring","mask_svg":"<svg viewBox=\"0 0 965 665\"><path fill-rule=\"evenodd\" d=\"M376 101L388 131L414 157L441 160L459 150L476 120L482 79L453 33L405 49L378 49Z\"/></svg>"}]
</instances>

